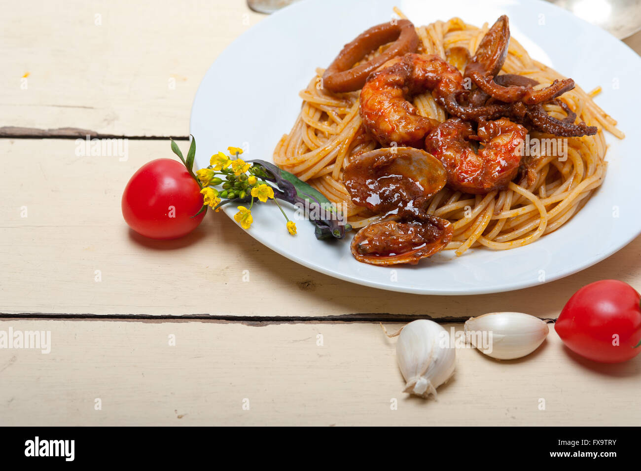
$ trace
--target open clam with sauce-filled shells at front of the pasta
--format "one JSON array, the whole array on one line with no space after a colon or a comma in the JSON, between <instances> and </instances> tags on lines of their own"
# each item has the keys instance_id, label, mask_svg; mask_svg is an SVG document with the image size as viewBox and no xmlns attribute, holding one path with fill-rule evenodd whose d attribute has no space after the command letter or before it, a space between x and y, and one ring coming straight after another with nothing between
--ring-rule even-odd
<instances>
[{"instance_id":1,"label":"open clam with sauce-filled shells at front of the pasta","mask_svg":"<svg viewBox=\"0 0 641 471\"><path fill-rule=\"evenodd\" d=\"M377 149L354 159L343 175L352 201L387 213L354 236L354 258L372 265L416 264L443 249L452 226L425 208L446 181L442 163L413 147Z\"/></svg>"}]
</instances>

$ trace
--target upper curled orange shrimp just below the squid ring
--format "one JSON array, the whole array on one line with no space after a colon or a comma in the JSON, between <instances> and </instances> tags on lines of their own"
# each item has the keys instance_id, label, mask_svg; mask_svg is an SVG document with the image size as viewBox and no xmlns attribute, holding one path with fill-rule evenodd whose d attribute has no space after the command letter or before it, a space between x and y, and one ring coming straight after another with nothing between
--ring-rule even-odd
<instances>
[{"instance_id":1,"label":"upper curled orange shrimp just below the squid ring","mask_svg":"<svg viewBox=\"0 0 641 471\"><path fill-rule=\"evenodd\" d=\"M393 142L420 147L440 123L420 116L408 98L431 90L440 103L460 90L462 82L456 67L439 56L409 53L393 58L372 73L361 90L363 126L385 147Z\"/></svg>"}]
</instances>

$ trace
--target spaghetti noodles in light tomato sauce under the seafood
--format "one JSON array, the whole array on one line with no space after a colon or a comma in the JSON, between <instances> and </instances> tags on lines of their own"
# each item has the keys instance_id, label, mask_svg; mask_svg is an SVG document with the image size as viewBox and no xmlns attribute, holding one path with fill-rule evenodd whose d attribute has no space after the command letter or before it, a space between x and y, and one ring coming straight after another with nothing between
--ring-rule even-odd
<instances>
[{"instance_id":1,"label":"spaghetti noodles in light tomato sauce under the seafood","mask_svg":"<svg viewBox=\"0 0 641 471\"><path fill-rule=\"evenodd\" d=\"M458 18L419 26L419 53L446 58L453 47L465 47L474 54L487 30L487 24L477 28ZM385 46L379 47L378 53L384 49ZM300 92L301 113L290 133L279 140L274 162L307 181L329 201L340 204L349 224L359 229L381 215L353 204L342 183L342 172L354 156L376 149L379 144L363 129L358 113L360 92L333 94L324 90L323 72L317 69L308 87ZM513 38L502 72L528 76L542 87L554 79L563 79L555 70L531 59ZM505 190L487 195L463 194L445 187L432 197L428 212L453 224L453 238L445 249L462 255L470 247L504 250L527 245L558 229L581 209L606 174L604 131L624 137L616 128L617 122L592 100L598 92L596 89L587 94L576 87L560 97L578 120L597 126L598 132L562 138L562 155L558 149L551 152L549 146L532 149L535 178L522 176ZM414 97L413 104L420 115L439 122L448 117L430 92ZM545 104L544 108L553 117L565 117L556 104ZM528 137L544 141L551 136L531 131Z\"/></svg>"}]
</instances>

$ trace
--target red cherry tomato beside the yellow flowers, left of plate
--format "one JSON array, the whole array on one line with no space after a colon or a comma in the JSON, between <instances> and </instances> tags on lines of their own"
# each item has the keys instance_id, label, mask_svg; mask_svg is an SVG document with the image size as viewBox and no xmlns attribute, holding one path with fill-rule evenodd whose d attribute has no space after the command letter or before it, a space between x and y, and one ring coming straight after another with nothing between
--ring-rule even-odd
<instances>
[{"instance_id":1,"label":"red cherry tomato beside the yellow flowers, left of plate","mask_svg":"<svg viewBox=\"0 0 641 471\"><path fill-rule=\"evenodd\" d=\"M185 165L156 159L133 174L122 194L122 215L138 234L153 239L187 235L201 223L203 195Z\"/></svg>"}]
</instances>

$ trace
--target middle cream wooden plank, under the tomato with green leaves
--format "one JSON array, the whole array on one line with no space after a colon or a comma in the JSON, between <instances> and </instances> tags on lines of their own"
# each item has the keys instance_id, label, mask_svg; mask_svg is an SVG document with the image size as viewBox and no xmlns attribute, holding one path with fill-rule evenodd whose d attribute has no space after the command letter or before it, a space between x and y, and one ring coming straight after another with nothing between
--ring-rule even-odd
<instances>
[{"instance_id":1,"label":"middle cream wooden plank, under the tomato with green leaves","mask_svg":"<svg viewBox=\"0 0 641 471\"><path fill-rule=\"evenodd\" d=\"M120 199L140 165L172 155L169 142L129 140L126 161L76 156L75 147L73 140L0 140L11 163L0 174L2 313L462 319L525 311L556 318L574 291L597 279L641 286L641 239L554 283L469 297L387 292L319 274L212 211L186 238L154 242L129 230Z\"/></svg>"}]
</instances>

